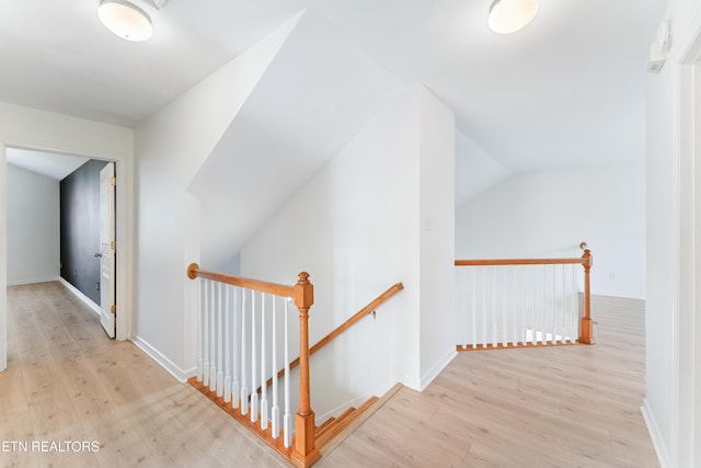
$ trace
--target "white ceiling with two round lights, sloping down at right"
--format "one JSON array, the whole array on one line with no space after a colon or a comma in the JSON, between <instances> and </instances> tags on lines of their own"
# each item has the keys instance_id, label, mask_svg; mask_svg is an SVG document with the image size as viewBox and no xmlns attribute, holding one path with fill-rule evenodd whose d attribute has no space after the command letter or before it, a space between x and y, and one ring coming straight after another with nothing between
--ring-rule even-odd
<instances>
[{"instance_id":1,"label":"white ceiling with two round lights, sloping down at right","mask_svg":"<svg viewBox=\"0 0 701 468\"><path fill-rule=\"evenodd\" d=\"M458 141L459 171L644 153L645 53L666 0L541 0L508 36L486 27L491 0L169 0L160 11L134 1L153 20L147 43L107 32L97 0L0 0L0 101L134 126L307 9L455 111L470 141Z\"/></svg>"}]
</instances>

